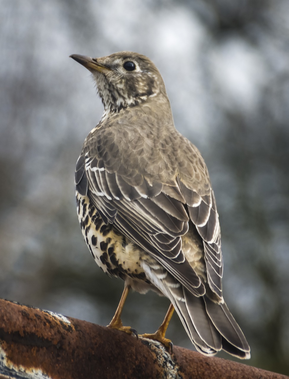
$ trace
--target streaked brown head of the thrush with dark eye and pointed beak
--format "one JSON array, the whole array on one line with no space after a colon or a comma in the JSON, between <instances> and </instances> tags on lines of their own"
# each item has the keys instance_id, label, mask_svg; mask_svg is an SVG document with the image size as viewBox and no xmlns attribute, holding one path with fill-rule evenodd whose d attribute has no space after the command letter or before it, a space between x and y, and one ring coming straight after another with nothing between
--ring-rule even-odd
<instances>
[{"instance_id":1,"label":"streaked brown head of the thrush with dark eye and pointed beak","mask_svg":"<svg viewBox=\"0 0 289 379\"><path fill-rule=\"evenodd\" d=\"M119 52L102 58L71 55L93 74L107 113L119 112L148 99L168 101L162 76L144 55Z\"/></svg>"}]
</instances>

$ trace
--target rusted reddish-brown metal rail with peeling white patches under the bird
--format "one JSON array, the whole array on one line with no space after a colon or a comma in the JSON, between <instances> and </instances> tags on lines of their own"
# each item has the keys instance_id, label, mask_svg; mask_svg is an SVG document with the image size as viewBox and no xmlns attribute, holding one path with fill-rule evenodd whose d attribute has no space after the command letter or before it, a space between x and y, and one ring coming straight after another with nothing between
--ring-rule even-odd
<instances>
[{"instance_id":1,"label":"rusted reddish-brown metal rail with peeling white patches under the bird","mask_svg":"<svg viewBox=\"0 0 289 379\"><path fill-rule=\"evenodd\" d=\"M285 379L0 299L0 379Z\"/></svg>"}]
</instances>

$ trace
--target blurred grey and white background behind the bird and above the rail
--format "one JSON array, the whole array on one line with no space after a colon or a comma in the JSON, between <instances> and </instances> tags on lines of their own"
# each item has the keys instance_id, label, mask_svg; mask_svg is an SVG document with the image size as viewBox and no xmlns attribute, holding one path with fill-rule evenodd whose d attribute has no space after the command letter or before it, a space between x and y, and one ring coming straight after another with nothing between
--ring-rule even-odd
<instances>
[{"instance_id":1,"label":"blurred grey and white background behind the bird and above the rail","mask_svg":"<svg viewBox=\"0 0 289 379\"><path fill-rule=\"evenodd\" d=\"M289 2L0 5L0 297L110 322L123 282L94 263L74 198L75 163L103 109L69 55L137 51L159 68L176 127L209 168L245 363L289 375ZM132 293L124 325L154 332L168 305ZM177 315L167 336L193 349Z\"/></svg>"}]
</instances>

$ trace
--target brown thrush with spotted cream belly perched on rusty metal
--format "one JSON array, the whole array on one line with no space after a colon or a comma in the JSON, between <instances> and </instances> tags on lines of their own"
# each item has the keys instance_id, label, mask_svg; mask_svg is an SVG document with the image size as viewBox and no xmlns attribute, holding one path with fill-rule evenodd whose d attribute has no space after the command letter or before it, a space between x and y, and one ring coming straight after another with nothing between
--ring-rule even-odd
<instances>
[{"instance_id":1,"label":"brown thrush with spotted cream belly perched on rusty metal","mask_svg":"<svg viewBox=\"0 0 289 379\"><path fill-rule=\"evenodd\" d=\"M196 349L250 358L222 295L223 258L215 196L198 149L177 132L163 79L146 57L71 55L90 70L104 105L76 164L77 212L96 263L124 280L109 327L123 326L129 289L171 301L160 328L143 337L165 346L176 310Z\"/></svg>"}]
</instances>

